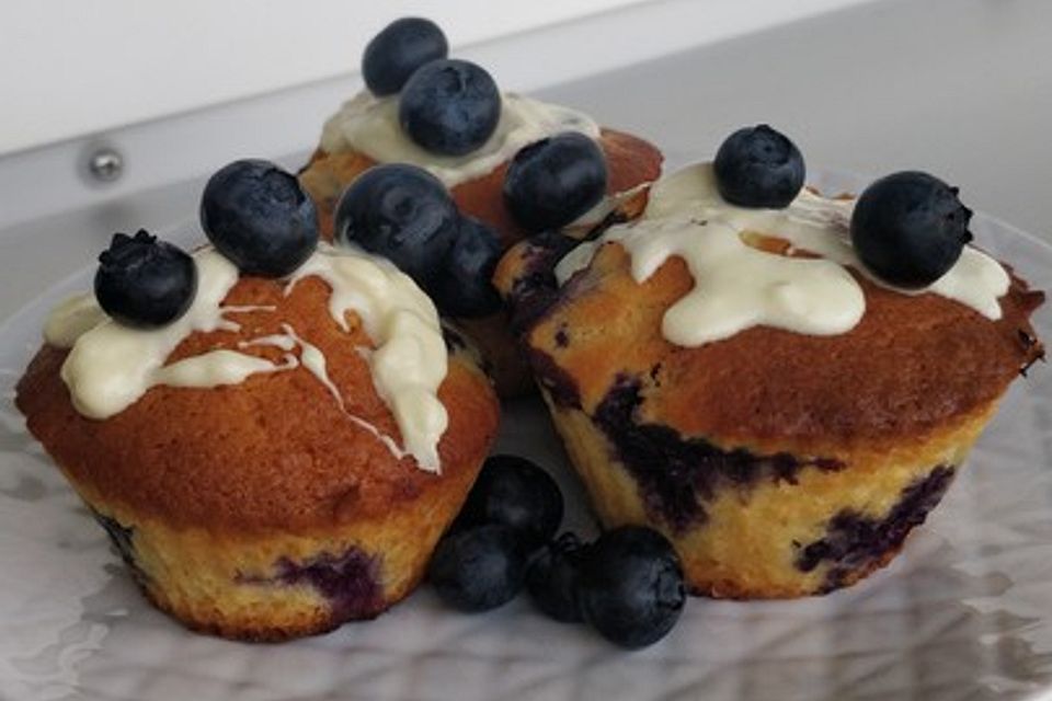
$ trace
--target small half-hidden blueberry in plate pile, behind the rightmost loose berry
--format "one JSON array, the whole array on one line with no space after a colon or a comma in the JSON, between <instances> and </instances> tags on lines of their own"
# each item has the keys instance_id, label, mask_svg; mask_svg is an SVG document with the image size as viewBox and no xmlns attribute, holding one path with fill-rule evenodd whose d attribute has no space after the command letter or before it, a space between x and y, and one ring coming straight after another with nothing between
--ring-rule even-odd
<instances>
[{"instance_id":1,"label":"small half-hidden blueberry in plate pile, behind the rightmost loose berry","mask_svg":"<svg viewBox=\"0 0 1052 701\"><path fill-rule=\"evenodd\" d=\"M563 623L581 622L578 606L578 566L584 548L573 533L562 533L548 543L526 568L526 590L534 604Z\"/></svg>"}]
</instances>

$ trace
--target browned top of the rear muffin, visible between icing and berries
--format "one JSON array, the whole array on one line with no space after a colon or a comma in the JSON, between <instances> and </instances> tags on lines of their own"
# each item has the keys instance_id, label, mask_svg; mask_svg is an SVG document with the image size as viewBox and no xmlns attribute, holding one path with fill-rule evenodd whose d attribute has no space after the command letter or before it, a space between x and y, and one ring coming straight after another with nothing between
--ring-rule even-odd
<instances>
[{"instance_id":1,"label":"browned top of the rear muffin, visible between icing and berries","mask_svg":"<svg viewBox=\"0 0 1052 701\"><path fill-rule=\"evenodd\" d=\"M608 195L628 192L661 174L663 157L649 141L622 131L603 129L599 146L606 154ZM332 240L332 218L343 189L373 165L376 161L353 150L327 153L319 149L311 156L299 180L318 206L322 238ZM507 163L503 163L487 175L450 189L460 211L493 227L505 248L527 235L504 206L502 192L506 172Z\"/></svg>"}]
</instances>

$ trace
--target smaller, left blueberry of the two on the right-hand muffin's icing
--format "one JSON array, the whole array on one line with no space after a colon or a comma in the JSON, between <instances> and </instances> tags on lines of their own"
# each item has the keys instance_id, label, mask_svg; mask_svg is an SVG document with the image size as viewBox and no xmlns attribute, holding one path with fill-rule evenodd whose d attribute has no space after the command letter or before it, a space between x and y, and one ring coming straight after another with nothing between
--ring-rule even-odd
<instances>
[{"instance_id":1,"label":"smaller, left blueberry of the two on the right-hand muffin's icing","mask_svg":"<svg viewBox=\"0 0 1052 701\"><path fill-rule=\"evenodd\" d=\"M803 187L803 156L766 124L727 137L712 166L720 195L740 207L786 207Z\"/></svg>"}]
</instances>

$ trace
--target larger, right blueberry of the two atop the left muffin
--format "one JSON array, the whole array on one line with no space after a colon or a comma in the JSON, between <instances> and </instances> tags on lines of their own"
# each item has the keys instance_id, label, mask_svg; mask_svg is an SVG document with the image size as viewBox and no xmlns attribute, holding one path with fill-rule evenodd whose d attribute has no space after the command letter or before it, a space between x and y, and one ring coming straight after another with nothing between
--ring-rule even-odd
<instances>
[{"instance_id":1,"label":"larger, right blueberry of the two atop the left muffin","mask_svg":"<svg viewBox=\"0 0 1052 701\"><path fill-rule=\"evenodd\" d=\"M295 175L263 160L235 161L208 179L201 226L247 275L288 275L318 244L313 200Z\"/></svg>"}]
</instances>

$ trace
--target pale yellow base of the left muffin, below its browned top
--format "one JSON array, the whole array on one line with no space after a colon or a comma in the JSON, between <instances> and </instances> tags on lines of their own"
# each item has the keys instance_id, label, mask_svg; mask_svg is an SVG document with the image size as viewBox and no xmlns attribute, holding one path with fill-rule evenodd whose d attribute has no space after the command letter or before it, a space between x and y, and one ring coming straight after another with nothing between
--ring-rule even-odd
<instances>
[{"instance_id":1,"label":"pale yellow base of the left muffin, below its browned top","mask_svg":"<svg viewBox=\"0 0 1052 701\"><path fill-rule=\"evenodd\" d=\"M467 495L481 461L459 470ZM279 642L376 618L421 582L460 504L399 505L382 519L317 532L175 528L66 476L157 608L186 628Z\"/></svg>"}]
</instances>

